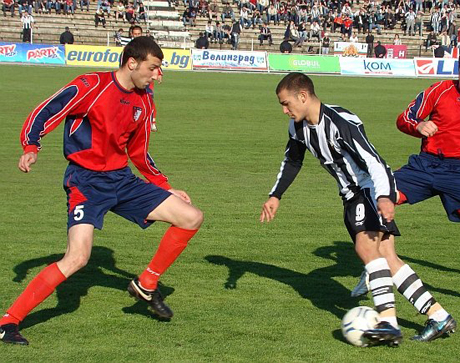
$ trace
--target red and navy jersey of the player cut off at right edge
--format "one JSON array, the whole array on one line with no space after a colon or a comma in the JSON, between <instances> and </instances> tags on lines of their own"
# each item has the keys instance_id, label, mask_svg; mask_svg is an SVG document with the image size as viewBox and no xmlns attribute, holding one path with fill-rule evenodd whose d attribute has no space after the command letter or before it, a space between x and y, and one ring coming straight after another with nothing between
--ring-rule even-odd
<instances>
[{"instance_id":1,"label":"red and navy jersey of the player cut off at right edge","mask_svg":"<svg viewBox=\"0 0 460 363\"><path fill-rule=\"evenodd\" d=\"M398 116L398 129L423 138L422 151L433 155L460 159L460 92L458 81L441 81L421 92ZM417 131L427 117L438 127L430 137Z\"/></svg>"}]
</instances>

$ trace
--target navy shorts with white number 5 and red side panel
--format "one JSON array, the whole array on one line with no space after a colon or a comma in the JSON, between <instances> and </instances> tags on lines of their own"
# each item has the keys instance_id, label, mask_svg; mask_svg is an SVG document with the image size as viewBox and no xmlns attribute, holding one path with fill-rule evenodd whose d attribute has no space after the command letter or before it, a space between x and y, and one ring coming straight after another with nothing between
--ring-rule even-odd
<instances>
[{"instance_id":1,"label":"navy shorts with white number 5 and red side panel","mask_svg":"<svg viewBox=\"0 0 460 363\"><path fill-rule=\"evenodd\" d=\"M64 176L64 189L69 216L67 228L85 223L102 229L109 210L147 228L154 222L147 221L147 216L171 195L138 178L129 167L97 172L70 164Z\"/></svg>"}]
</instances>

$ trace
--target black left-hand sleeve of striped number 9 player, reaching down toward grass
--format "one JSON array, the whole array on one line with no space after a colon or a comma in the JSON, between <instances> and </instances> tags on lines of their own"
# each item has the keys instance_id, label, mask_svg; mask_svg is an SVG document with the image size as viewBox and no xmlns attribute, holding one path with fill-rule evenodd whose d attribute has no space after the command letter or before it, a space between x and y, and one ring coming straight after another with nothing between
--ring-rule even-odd
<instances>
[{"instance_id":1,"label":"black left-hand sleeve of striped number 9 player, reaching down toward grass","mask_svg":"<svg viewBox=\"0 0 460 363\"><path fill-rule=\"evenodd\" d=\"M290 130L293 127L290 128ZM275 185L269 193L270 197L281 199L289 188L303 165L306 146L295 138L295 133L289 132L289 141L286 145L284 160L281 162L280 171L276 177Z\"/></svg>"}]
</instances>

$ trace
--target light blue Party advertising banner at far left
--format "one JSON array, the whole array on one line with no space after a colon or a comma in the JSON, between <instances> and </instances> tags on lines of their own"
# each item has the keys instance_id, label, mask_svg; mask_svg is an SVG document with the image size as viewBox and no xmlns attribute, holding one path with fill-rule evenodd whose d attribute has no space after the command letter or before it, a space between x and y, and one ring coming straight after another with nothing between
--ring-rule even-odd
<instances>
[{"instance_id":1,"label":"light blue Party advertising banner at far left","mask_svg":"<svg viewBox=\"0 0 460 363\"><path fill-rule=\"evenodd\" d=\"M0 62L65 64L64 46L0 42Z\"/></svg>"}]
</instances>

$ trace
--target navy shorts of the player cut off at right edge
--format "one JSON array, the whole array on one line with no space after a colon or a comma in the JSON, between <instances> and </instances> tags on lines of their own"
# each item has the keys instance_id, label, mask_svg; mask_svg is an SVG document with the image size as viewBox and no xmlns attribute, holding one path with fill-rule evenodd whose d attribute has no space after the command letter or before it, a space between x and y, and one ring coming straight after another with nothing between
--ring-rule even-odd
<instances>
[{"instance_id":1,"label":"navy shorts of the player cut off at right edge","mask_svg":"<svg viewBox=\"0 0 460 363\"><path fill-rule=\"evenodd\" d=\"M425 152L411 155L395 173L398 190L409 204L439 195L449 220L460 222L460 160L441 159Z\"/></svg>"}]
</instances>

